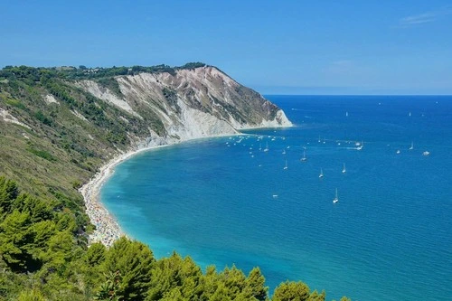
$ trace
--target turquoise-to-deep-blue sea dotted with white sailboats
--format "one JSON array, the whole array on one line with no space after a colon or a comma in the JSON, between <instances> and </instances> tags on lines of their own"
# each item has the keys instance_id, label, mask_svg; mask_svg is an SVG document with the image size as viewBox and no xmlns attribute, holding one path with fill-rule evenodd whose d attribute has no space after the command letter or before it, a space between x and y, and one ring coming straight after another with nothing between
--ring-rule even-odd
<instances>
[{"instance_id":1,"label":"turquoise-to-deep-blue sea dotted with white sailboats","mask_svg":"<svg viewBox=\"0 0 452 301\"><path fill-rule=\"evenodd\" d=\"M290 279L327 299L450 300L452 97L268 99L295 127L141 153L102 202L157 258L259 266L270 290Z\"/></svg>"}]
</instances>

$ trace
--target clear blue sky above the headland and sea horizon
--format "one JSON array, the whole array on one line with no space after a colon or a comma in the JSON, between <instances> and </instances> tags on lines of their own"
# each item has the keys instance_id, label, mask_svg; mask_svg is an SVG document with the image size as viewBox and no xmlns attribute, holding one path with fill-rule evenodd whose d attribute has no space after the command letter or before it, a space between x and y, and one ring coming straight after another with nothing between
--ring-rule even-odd
<instances>
[{"instance_id":1,"label":"clear blue sky above the headland and sea horizon","mask_svg":"<svg viewBox=\"0 0 452 301\"><path fill-rule=\"evenodd\" d=\"M0 67L188 61L263 94L452 94L452 2L0 0Z\"/></svg>"}]
</instances>

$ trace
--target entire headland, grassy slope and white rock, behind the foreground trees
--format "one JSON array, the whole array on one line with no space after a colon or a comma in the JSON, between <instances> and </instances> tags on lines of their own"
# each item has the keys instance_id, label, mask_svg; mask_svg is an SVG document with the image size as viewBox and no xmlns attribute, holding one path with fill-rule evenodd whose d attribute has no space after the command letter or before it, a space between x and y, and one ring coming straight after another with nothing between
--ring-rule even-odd
<instances>
[{"instance_id":1,"label":"entire headland, grassy slope and white rock, behind the foreground trees","mask_svg":"<svg viewBox=\"0 0 452 301\"><path fill-rule=\"evenodd\" d=\"M80 200L80 184L127 150L291 123L258 92L195 63L5 67L0 126L0 174L33 193Z\"/></svg>"}]
</instances>

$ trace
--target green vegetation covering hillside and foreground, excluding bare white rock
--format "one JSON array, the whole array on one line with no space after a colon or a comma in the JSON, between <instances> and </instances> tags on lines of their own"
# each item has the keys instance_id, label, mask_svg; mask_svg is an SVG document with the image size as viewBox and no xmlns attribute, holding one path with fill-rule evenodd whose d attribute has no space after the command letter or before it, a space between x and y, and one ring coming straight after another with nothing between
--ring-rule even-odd
<instances>
[{"instance_id":1,"label":"green vegetation covering hillside and foreground, excluding bare white rock","mask_svg":"<svg viewBox=\"0 0 452 301\"><path fill-rule=\"evenodd\" d=\"M148 246L127 238L108 249L88 245L94 226L80 185L131 138L149 136L148 128L164 135L165 128L146 107L137 118L74 80L95 80L119 94L115 76L204 65L0 71L0 301L325 300L325 292L302 282L270 292L259 268L248 275L234 266L202 271L175 252L155 259Z\"/></svg>"}]
</instances>

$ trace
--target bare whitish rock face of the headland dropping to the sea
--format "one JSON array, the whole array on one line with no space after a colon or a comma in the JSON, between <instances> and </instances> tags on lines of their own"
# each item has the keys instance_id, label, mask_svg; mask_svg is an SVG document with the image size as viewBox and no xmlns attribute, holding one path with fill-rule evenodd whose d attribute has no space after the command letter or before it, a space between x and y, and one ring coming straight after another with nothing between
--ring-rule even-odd
<instances>
[{"instance_id":1,"label":"bare whitish rock face of the headland dropping to the sea","mask_svg":"<svg viewBox=\"0 0 452 301\"><path fill-rule=\"evenodd\" d=\"M76 85L131 115L145 120L158 118L165 127L165 139L180 141L231 135L243 128L292 126L281 109L214 67L177 70L175 75L140 73L116 80L122 98L93 80L80 80ZM150 132L155 141L163 137L152 127ZM151 144L146 141L147 146Z\"/></svg>"}]
</instances>

